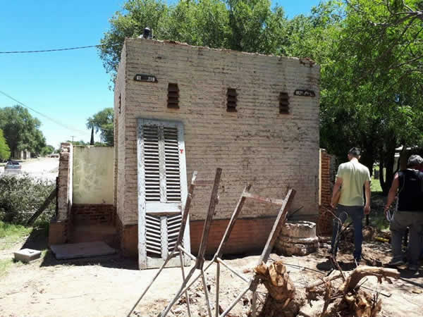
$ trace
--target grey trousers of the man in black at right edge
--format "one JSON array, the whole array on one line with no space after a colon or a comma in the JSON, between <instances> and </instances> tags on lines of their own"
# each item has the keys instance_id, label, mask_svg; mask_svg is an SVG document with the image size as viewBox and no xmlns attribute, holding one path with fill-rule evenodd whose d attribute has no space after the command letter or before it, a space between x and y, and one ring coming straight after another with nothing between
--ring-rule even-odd
<instances>
[{"instance_id":1,"label":"grey trousers of the man in black at right edge","mask_svg":"<svg viewBox=\"0 0 423 317\"><path fill-rule=\"evenodd\" d=\"M423 232L423 211L395 211L389 229L391 230L392 261L402 260L403 237L407 227L410 228L410 239L408 240L409 264L416 265L419 261L421 251L420 242Z\"/></svg>"}]
</instances>

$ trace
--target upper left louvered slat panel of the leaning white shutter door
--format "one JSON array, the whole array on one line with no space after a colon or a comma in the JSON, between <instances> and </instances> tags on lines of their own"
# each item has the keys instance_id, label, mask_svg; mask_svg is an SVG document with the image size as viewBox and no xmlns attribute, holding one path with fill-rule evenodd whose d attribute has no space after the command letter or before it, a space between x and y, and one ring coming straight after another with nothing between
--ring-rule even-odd
<instances>
[{"instance_id":1,"label":"upper left louvered slat panel of the leaning white shutter door","mask_svg":"<svg viewBox=\"0 0 423 317\"><path fill-rule=\"evenodd\" d=\"M160 201L159 127L145 125L144 138L145 201Z\"/></svg>"}]
</instances>

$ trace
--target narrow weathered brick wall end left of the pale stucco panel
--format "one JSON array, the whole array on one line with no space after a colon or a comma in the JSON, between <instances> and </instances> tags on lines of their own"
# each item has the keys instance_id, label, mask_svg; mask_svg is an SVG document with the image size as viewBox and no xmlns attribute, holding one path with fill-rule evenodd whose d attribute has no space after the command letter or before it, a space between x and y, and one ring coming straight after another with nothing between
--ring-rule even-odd
<instances>
[{"instance_id":1,"label":"narrow weathered brick wall end left of the pale stucco panel","mask_svg":"<svg viewBox=\"0 0 423 317\"><path fill-rule=\"evenodd\" d=\"M68 220L72 207L73 184L73 146L71 143L61 144L59 159L59 189L57 191L57 220Z\"/></svg>"}]
</instances>

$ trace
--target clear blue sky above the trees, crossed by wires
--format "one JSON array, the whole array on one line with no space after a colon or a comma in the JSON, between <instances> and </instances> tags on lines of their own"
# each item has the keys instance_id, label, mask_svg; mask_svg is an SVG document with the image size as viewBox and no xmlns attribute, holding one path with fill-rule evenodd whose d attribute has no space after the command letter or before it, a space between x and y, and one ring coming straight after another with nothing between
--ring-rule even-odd
<instances>
[{"instance_id":1,"label":"clear blue sky above the trees, crossed by wires","mask_svg":"<svg viewBox=\"0 0 423 317\"><path fill-rule=\"evenodd\" d=\"M108 19L123 0L3 1L0 11L0 51L30 51L98 44L109 29ZM173 3L174 1L169 1ZM288 17L308 14L319 0L278 0ZM39 54L0 54L0 91L66 125L32 111L42 122L47 143L59 147L71 139L90 141L85 122L92 114L113 107L109 75L97 49ZM0 94L0 108L15 101ZM98 135L95 137L99 139Z\"/></svg>"}]
</instances>

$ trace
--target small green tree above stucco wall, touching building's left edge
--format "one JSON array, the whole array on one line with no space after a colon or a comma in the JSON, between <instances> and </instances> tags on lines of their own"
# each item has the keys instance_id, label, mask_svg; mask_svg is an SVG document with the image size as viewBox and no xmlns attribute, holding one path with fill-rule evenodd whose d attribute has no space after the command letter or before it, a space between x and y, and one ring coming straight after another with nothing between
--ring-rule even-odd
<instances>
[{"instance_id":1,"label":"small green tree above stucco wall, touching building's left edge","mask_svg":"<svg viewBox=\"0 0 423 317\"><path fill-rule=\"evenodd\" d=\"M100 139L108 146L114 145L114 109L104 108L87 119L87 129L100 132Z\"/></svg>"}]
</instances>

